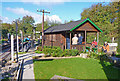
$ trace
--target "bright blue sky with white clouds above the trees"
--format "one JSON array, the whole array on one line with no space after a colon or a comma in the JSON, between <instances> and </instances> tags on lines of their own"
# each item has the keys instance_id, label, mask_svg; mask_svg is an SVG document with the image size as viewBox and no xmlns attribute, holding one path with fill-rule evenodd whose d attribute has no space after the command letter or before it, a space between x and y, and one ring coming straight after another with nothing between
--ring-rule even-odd
<instances>
[{"instance_id":1,"label":"bright blue sky with white clouds above the trees","mask_svg":"<svg viewBox=\"0 0 120 81\"><path fill-rule=\"evenodd\" d=\"M42 1L42 0L41 0ZM45 0L44 0L45 1ZM53 0L55 1L55 0ZM80 20L81 13L85 8L91 7L98 2L69 2L64 0L58 0L58 2L34 2L27 0L23 1L3 1L0 3L0 18L3 23L11 23L15 19L22 19L23 16L32 16L35 20L35 24L42 22L42 13L38 10L44 9L50 11L50 14L45 13L45 20L56 21L64 23L70 20ZM108 2L106 2L108 3Z\"/></svg>"}]
</instances>

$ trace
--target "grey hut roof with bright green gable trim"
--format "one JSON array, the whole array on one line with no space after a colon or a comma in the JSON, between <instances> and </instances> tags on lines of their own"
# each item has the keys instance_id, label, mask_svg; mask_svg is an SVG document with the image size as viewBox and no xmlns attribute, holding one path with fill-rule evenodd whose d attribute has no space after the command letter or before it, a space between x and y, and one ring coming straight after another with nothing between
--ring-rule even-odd
<instances>
[{"instance_id":1,"label":"grey hut roof with bright green gable trim","mask_svg":"<svg viewBox=\"0 0 120 81\"><path fill-rule=\"evenodd\" d=\"M76 29L77 27L80 27L80 25L84 24L87 21L89 21L94 27L96 27L98 31L102 32L102 30L98 26L96 26L89 18L86 18L83 20L73 21L67 24L60 24L58 26L49 27L46 30L44 30L44 33L73 31L74 29Z\"/></svg>"}]
</instances>

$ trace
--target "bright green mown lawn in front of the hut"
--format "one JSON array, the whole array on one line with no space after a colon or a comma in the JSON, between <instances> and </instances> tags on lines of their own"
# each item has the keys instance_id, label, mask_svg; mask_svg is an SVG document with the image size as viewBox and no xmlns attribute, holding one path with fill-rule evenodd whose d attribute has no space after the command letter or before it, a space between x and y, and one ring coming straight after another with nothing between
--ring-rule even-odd
<instances>
[{"instance_id":1,"label":"bright green mown lawn in front of the hut","mask_svg":"<svg viewBox=\"0 0 120 81\"><path fill-rule=\"evenodd\" d=\"M99 60L69 58L49 61L34 60L35 79L50 79L54 75L74 79L116 79L118 69Z\"/></svg>"}]
</instances>

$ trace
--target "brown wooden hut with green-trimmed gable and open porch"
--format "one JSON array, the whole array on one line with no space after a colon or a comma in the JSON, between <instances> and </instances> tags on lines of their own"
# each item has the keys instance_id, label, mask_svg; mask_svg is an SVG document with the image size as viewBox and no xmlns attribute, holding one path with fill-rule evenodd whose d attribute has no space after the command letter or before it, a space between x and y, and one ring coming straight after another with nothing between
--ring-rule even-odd
<instances>
[{"instance_id":1,"label":"brown wooden hut with green-trimmed gable and open porch","mask_svg":"<svg viewBox=\"0 0 120 81\"><path fill-rule=\"evenodd\" d=\"M62 49L68 49L66 38L69 38L70 49L78 49L82 51L84 48L86 48L86 46L91 45L90 43L86 42L86 35L88 32L94 32L97 35L97 42L99 42L99 32L102 32L102 30L89 18L49 27L44 31L44 45L59 46ZM75 33L82 33L83 41L81 45L72 45L72 37Z\"/></svg>"}]
</instances>

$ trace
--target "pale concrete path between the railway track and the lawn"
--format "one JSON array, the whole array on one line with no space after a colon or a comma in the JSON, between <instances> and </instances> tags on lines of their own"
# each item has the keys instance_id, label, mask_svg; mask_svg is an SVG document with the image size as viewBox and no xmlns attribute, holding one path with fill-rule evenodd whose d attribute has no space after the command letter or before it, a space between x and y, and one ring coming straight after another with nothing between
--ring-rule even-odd
<instances>
[{"instance_id":1,"label":"pale concrete path between the railway track and the lawn","mask_svg":"<svg viewBox=\"0 0 120 81\"><path fill-rule=\"evenodd\" d=\"M30 79L30 81L35 81L34 77L34 64L33 64L33 56L42 56L44 54L37 54L37 53L26 53L20 54L19 60L24 59L24 70L23 70L23 81L26 79Z\"/></svg>"}]
</instances>

